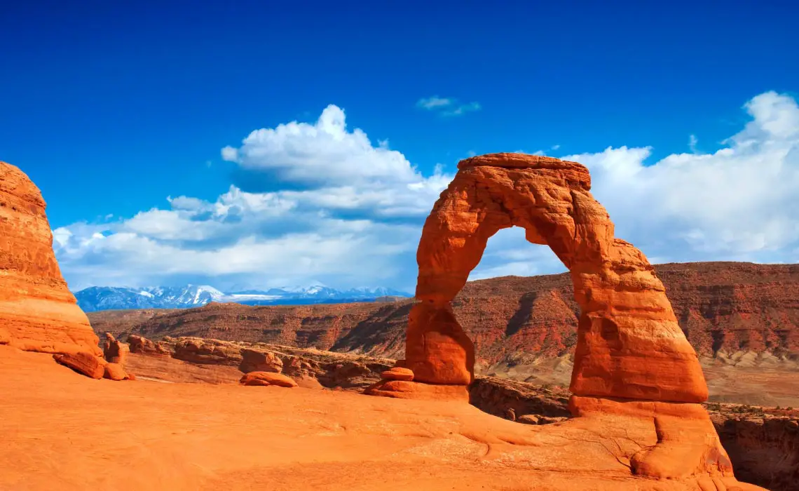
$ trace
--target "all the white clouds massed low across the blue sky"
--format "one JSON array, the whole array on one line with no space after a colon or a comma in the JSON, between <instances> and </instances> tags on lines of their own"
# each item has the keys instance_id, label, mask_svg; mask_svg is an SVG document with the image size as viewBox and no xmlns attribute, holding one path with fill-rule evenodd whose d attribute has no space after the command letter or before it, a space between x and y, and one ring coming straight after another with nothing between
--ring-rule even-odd
<instances>
[{"instance_id":1,"label":"all the white clouds massed low across the blue sky","mask_svg":"<svg viewBox=\"0 0 799 491\"><path fill-rule=\"evenodd\" d=\"M424 101L432 109L454 104ZM711 154L696 151L690 135L690 153L654 163L649 147L559 157L590 169L616 235L652 262L799 262L799 106L768 92L743 110L749 122ZM179 196L133 217L58 228L54 248L70 288L321 281L413 289L424 217L452 178L440 166L423 174L388 142L348 130L337 106L313 123L252 131L221 153L277 190L230 186L214 202ZM472 278L562 270L521 230L503 230Z\"/></svg>"}]
</instances>

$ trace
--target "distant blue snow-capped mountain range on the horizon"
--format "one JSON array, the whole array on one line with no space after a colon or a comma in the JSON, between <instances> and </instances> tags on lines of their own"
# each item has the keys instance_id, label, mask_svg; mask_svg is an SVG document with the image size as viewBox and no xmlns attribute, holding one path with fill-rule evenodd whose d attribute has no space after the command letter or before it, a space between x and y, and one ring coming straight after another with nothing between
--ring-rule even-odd
<instances>
[{"instance_id":1,"label":"distant blue snow-capped mountain range on the horizon","mask_svg":"<svg viewBox=\"0 0 799 491\"><path fill-rule=\"evenodd\" d=\"M222 293L209 285L177 287L152 286L127 288L92 286L75 292L84 312L111 309L188 309L211 301L236 302L244 305L300 305L375 301L379 297L412 297L390 288L332 289L324 285L296 288L271 288Z\"/></svg>"}]
</instances>

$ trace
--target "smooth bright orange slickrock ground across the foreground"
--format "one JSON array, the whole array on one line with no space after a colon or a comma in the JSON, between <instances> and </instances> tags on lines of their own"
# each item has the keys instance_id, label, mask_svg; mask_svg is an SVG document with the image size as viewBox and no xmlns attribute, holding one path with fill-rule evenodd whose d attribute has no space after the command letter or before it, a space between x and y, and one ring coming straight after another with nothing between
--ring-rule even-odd
<instances>
[{"instance_id":1,"label":"smooth bright orange slickrock ground across the foreground","mask_svg":"<svg viewBox=\"0 0 799 491\"><path fill-rule=\"evenodd\" d=\"M6 346L0 394L3 491L698 489L631 477L609 442L633 445L634 429L607 440L585 418L527 426L455 402L97 381Z\"/></svg>"}]
</instances>

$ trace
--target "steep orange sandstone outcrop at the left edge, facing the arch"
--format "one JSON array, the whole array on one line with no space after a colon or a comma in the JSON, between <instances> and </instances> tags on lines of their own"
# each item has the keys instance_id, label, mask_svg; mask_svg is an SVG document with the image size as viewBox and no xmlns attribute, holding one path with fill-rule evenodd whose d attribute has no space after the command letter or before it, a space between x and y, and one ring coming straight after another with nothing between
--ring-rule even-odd
<instances>
[{"instance_id":1,"label":"steep orange sandstone outcrop at the left edge, facing the arch","mask_svg":"<svg viewBox=\"0 0 799 491\"><path fill-rule=\"evenodd\" d=\"M97 335L58 268L45 207L24 173L0 162L0 325L6 344L100 354Z\"/></svg>"}]
</instances>

